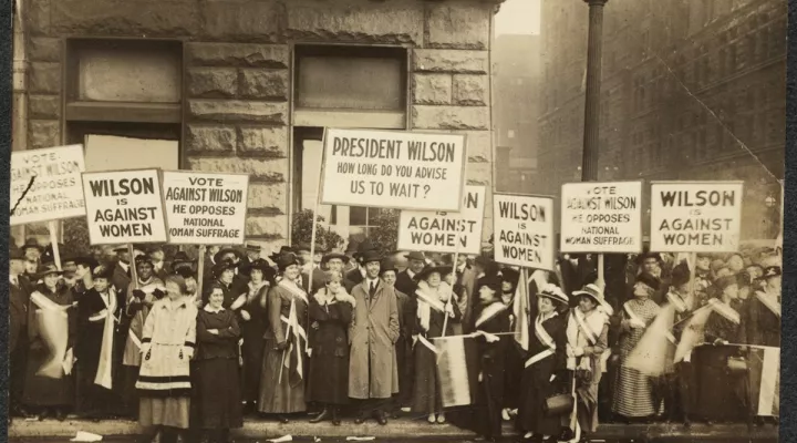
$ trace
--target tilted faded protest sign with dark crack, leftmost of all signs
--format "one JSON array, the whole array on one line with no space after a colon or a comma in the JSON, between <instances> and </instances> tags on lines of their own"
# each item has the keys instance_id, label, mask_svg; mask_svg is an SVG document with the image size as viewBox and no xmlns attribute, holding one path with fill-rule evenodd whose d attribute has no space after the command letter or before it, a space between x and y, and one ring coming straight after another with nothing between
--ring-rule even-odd
<instances>
[{"instance_id":1,"label":"tilted faded protest sign with dark crack, leftmost of all signs","mask_svg":"<svg viewBox=\"0 0 797 443\"><path fill-rule=\"evenodd\" d=\"M11 225L85 215L83 171L82 145L12 153Z\"/></svg>"}]
</instances>

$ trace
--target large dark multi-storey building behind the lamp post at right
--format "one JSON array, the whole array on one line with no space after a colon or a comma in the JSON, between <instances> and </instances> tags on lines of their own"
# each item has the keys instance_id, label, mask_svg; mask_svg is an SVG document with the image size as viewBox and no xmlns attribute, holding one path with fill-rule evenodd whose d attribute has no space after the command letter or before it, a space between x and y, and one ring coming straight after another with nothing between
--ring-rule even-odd
<instances>
[{"instance_id":1,"label":"large dark multi-storey building behind the lamp post at right","mask_svg":"<svg viewBox=\"0 0 797 443\"><path fill-rule=\"evenodd\" d=\"M775 238L786 17L783 0L610 0L599 178L744 181L743 237ZM581 176L587 23L583 2L542 1L538 162L546 194Z\"/></svg>"}]
</instances>

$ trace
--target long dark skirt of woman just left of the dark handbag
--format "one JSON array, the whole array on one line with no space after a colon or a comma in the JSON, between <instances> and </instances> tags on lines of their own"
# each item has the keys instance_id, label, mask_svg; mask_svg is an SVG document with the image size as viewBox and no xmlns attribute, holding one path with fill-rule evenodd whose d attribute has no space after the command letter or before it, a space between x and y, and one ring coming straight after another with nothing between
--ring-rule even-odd
<instances>
[{"instance_id":1,"label":"long dark skirt of woman just left of the dark handbag","mask_svg":"<svg viewBox=\"0 0 797 443\"><path fill-rule=\"evenodd\" d=\"M565 380L550 381L555 360L547 358L524 369L521 402L518 408L518 425L526 432L541 435L558 435L561 418L549 416L545 411L546 400L562 392Z\"/></svg>"}]
</instances>

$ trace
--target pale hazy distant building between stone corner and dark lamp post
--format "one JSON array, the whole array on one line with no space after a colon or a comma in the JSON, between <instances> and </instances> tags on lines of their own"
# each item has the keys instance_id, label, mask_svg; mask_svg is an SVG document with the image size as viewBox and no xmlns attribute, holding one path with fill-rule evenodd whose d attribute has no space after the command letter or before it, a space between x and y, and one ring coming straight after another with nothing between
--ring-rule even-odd
<instances>
[{"instance_id":1,"label":"pale hazy distant building between stone corner and dark lamp post","mask_svg":"<svg viewBox=\"0 0 797 443\"><path fill-rule=\"evenodd\" d=\"M499 192L537 186L539 35L498 35L493 48L493 109Z\"/></svg>"}]
</instances>

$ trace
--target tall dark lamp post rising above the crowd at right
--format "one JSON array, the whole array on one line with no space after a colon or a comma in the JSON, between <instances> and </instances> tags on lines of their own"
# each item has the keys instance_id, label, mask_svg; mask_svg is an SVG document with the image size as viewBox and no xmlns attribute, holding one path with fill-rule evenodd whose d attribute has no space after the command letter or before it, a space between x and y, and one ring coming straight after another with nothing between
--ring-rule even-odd
<instances>
[{"instance_id":1,"label":"tall dark lamp post rising above the crowd at right","mask_svg":"<svg viewBox=\"0 0 797 443\"><path fill-rule=\"evenodd\" d=\"M600 135L600 83L603 38L603 7L609 0L584 0L589 4L589 40L587 42L587 91L584 105L584 142L581 181L598 179Z\"/></svg>"}]
</instances>

